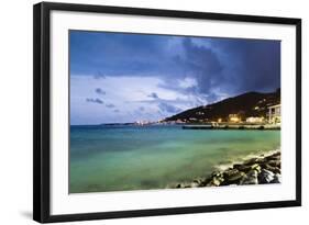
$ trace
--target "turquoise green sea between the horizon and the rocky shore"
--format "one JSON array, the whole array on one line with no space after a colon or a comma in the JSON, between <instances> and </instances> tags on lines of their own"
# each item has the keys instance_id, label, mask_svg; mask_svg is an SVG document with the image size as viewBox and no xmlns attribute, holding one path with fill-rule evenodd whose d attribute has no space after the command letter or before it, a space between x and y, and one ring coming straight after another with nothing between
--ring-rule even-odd
<instances>
[{"instance_id":1,"label":"turquoise green sea between the horizon and the rocky shore","mask_svg":"<svg viewBox=\"0 0 309 225\"><path fill-rule=\"evenodd\" d=\"M69 192L162 189L279 145L279 131L70 126Z\"/></svg>"}]
</instances>

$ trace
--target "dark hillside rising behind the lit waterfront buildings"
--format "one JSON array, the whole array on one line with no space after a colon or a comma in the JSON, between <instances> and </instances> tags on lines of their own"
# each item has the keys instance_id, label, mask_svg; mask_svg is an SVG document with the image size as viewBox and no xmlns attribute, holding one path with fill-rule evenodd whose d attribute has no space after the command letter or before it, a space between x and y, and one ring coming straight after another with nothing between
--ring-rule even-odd
<instances>
[{"instance_id":1,"label":"dark hillside rising behind the lit waterfront buildings","mask_svg":"<svg viewBox=\"0 0 309 225\"><path fill-rule=\"evenodd\" d=\"M268 106L279 103L280 89L272 93L246 92L209 105L186 110L165 119L165 121L209 122L221 119L224 122L229 120L230 114L238 114L243 121L250 116L266 117Z\"/></svg>"}]
</instances>

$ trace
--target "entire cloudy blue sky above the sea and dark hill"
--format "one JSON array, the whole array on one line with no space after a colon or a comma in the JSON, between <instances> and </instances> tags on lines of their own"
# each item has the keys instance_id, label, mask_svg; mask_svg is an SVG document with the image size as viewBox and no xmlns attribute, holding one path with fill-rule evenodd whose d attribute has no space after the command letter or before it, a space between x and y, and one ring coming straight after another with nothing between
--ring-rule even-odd
<instances>
[{"instance_id":1,"label":"entire cloudy blue sky above the sea and dark hill","mask_svg":"<svg viewBox=\"0 0 309 225\"><path fill-rule=\"evenodd\" d=\"M70 123L156 121L280 86L280 42L71 31Z\"/></svg>"}]
</instances>

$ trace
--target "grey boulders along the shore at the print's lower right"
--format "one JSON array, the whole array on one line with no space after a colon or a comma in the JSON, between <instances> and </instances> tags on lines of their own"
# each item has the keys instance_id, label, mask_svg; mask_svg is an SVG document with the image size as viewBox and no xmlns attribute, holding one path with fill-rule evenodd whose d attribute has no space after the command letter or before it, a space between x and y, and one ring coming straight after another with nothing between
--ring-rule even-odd
<instances>
[{"instance_id":1,"label":"grey boulders along the shore at the print's lower right","mask_svg":"<svg viewBox=\"0 0 309 225\"><path fill-rule=\"evenodd\" d=\"M213 171L211 176L191 182L176 183L169 188L199 188L219 185L266 184L282 182L280 151L234 164L225 170Z\"/></svg>"}]
</instances>

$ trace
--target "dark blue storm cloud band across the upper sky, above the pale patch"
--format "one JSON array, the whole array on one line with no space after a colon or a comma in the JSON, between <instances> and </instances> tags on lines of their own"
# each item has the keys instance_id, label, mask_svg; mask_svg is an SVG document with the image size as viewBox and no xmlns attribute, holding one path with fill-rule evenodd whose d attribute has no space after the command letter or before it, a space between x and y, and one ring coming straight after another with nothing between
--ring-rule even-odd
<instances>
[{"instance_id":1,"label":"dark blue storm cloud band across the upper sky, above the pale patch","mask_svg":"<svg viewBox=\"0 0 309 225\"><path fill-rule=\"evenodd\" d=\"M73 75L157 77L159 88L201 102L280 86L279 41L71 32L70 45ZM197 85L180 86L185 78Z\"/></svg>"}]
</instances>

